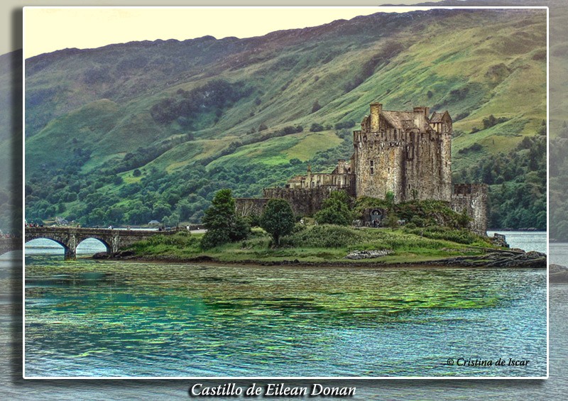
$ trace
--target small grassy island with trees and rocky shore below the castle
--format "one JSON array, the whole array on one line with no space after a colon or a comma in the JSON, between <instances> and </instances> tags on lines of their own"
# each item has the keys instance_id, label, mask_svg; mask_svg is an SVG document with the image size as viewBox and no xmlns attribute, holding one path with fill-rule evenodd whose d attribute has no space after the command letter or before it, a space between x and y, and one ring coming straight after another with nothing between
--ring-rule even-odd
<instances>
[{"instance_id":1,"label":"small grassy island with trees and rocky shore below the castle","mask_svg":"<svg viewBox=\"0 0 568 401\"><path fill-rule=\"evenodd\" d=\"M469 218L444 202L363 198L350 205L334 192L314 217L297 219L288 202L271 199L261 216L239 216L230 189L207 209L207 232L178 229L134 243L114 257L124 260L305 266L452 266L546 268L545 254L510 249L502 236L466 228ZM390 207L386 226L352 226L352 217ZM417 223L421 226L417 226ZM98 255L97 258L106 258Z\"/></svg>"}]
</instances>

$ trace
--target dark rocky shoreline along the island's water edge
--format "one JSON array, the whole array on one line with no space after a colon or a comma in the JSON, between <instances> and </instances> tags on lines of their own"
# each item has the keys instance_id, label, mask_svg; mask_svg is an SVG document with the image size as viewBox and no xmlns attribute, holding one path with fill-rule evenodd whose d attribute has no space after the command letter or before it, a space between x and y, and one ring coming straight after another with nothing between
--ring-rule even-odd
<instances>
[{"instance_id":1,"label":"dark rocky shoreline along the island's water edge","mask_svg":"<svg viewBox=\"0 0 568 401\"><path fill-rule=\"evenodd\" d=\"M383 254L384 255L384 254ZM405 267L405 266L432 266L432 267L456 267L456 268L546 268L547 256L545 253L521 250L498 250L491 251L480 256L457 256L425 261L408 261L401 263L385 262L380 257L351 260L330 260L325 262L305 262L301 260L219 260L211 256L196 256L192 258L178 258L174 256L136 256L133 251L121 251L114 256L107 253L97 253L95 259L132 260L160 263L215 263L227 265L260 265L260 266L321 266L321 267ZM568 269L566 270L568 275Z\"/></svg>"}]
</instances>

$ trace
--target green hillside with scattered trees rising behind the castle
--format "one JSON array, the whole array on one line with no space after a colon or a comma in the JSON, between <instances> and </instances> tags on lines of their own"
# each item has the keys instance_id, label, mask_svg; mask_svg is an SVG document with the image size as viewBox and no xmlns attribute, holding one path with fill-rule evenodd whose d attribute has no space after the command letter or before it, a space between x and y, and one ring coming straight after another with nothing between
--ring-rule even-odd
<instances>
[{"instance_id":1,"label":"green hillside with scattered trees rising behind the castle","mask_svg":"<svg viewBox=\"0 0 568 401\"><path fill-rule=\"evenodd\" d=\"M473 165L518 158L532 146L536 164L488 182L524 188L545 163L539 141L521 145L542 136L546 119L545 17L543 10L377 13L260 38L33 57L26 217L198 221L219 188L258 196L308 164L330 170L349 158L350 131L373 101L448 110L457 181L483 181ZM486 123L490 117L496 123ZM310 131L314 123L323 130ZM545 199L545 182L537 184L529 209Z\"/></svg>"}]
</instances>

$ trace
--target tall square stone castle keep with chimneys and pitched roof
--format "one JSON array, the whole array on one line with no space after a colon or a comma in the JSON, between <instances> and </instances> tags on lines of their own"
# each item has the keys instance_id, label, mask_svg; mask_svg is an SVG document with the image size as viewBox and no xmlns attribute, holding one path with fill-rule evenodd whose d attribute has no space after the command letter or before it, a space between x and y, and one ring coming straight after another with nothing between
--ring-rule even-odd
<instances>
[{"instance_id":1,"label":"tall square stone castle keep with chimneys and pitched roof","mask_svg":"<svg viewBox=\"0 0 568 401\"><path fill-rule=\"evenodd\" d=\"M452 119L430 108L387 111L371 104L371 113L354 131L352 165L356 196L395 202L452 199Z\"/></svg>"}]
</instances>

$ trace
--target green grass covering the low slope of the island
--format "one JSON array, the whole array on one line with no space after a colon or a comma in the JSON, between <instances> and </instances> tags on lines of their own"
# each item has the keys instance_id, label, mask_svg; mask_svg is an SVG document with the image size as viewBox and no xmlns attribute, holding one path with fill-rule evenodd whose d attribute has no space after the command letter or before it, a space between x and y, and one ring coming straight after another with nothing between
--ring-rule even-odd
<instances>
[{"instance_id":1,"label":"green grass covering the low slope of the island","mask_svg":"<svg viewBox=\"0 0 568 401\"><path fill-rule=\"evenodd\" d=\"M447 234L446 238L452 234ZM202 251L202 234L185 232L173 236L156 236L136 243L131 248L136 256L143 258L190 259L208 256L223 262L343 262L343 263L413 263L439 260L452 256L475 256L485 252L491 245L481 237L471 243L449 241L443 235L427 238L412 232L397 229L352 229L342 226L310 226L282 238L282 246L272 246L271 236L262 229L254 229L249 239L238 243ZM349 260L345 256L355 250L393 251L381 258Z\"/></svg>"}]
</instances>

